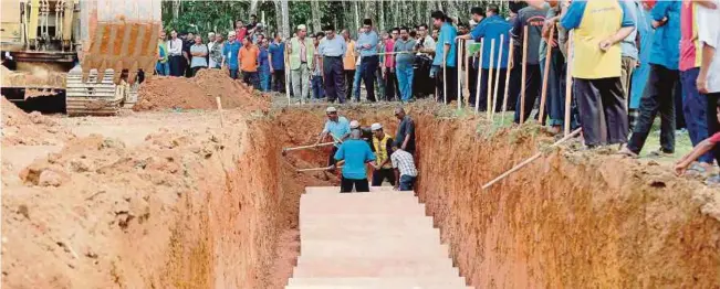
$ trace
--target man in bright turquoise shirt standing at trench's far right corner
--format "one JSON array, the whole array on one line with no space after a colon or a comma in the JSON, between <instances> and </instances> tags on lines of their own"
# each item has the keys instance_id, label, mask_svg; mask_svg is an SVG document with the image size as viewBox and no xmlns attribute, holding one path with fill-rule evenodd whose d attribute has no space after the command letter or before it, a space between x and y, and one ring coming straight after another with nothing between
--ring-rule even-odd
<instances>
[{"instance_id":1,"label":"man in bright turquoise shirt standing at trench's far right corner","mask_svg":"<svg viewBox=\"0 0 720 289\"><path fill-rule=\"evenodd\" d=\"M432 24L440 29L438 42L435 44L435 58L432 60L432 66L437 67L435 84L439 92L438 101L450 103L458 99L458 49L455 42L458 30L452 26L451 19L442 11L435 11L430 17L432 18Z\"/></svg>"}]
</instances>

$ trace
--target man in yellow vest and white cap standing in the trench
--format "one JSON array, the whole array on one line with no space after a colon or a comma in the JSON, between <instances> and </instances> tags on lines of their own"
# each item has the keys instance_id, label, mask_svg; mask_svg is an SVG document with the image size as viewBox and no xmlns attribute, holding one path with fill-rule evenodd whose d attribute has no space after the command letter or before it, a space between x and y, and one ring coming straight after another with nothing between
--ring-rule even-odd
<instances>
[{"instance_id":1,"label":"man in yellow vest and white cap standing in the trench","mask_svg":"<svg viewBox=\"0 0 720 289\"><path fill-rule=\"evenodd\" d=\"M373 186L383 185L385 180L395 185L395 174L390 162L393 138L383 131L383 125L380 124L373 124L371 129L373 130L373 149L377 163L377 167L373 170Z\"/></svg>"}]
</instances>

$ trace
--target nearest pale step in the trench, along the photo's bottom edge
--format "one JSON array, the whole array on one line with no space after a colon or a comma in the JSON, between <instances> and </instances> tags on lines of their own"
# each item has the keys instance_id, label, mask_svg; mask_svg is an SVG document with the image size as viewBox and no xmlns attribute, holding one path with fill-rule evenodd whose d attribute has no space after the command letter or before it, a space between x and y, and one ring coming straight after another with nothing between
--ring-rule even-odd
<instances>
[{"instance_id":1,"label":"nearest pale step in the trench, along the photo's bottom edge","mask_svg":"<svg viewBox=\"0 0 720 289\"><path fill-rule=\"evenodd\" d=\"M367 286L372 288L465 288L465 278L291 278L288 286Z\"/></svg>"}]
</instances>

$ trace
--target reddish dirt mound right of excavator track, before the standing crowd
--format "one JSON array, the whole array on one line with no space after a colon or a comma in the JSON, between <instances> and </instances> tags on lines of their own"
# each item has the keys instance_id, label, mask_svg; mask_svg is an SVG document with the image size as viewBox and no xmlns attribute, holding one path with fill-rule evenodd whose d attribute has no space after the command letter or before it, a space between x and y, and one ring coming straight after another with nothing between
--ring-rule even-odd
<instances>
[{"instance_id":1,"label":"reddish dirt mound right of excavator track, before the standing crowd","mask_svg":"<svg viewBox=\"0 0 720 289\"><path fill-rule=\"evenodd\" d=\"M220 97L222 108L267 113L271 105L270 97L233 81L223 71L202 69L192 78L158 76L146 81L133 110L217 109L216 97Z\"/></svg>"}]
</instances>

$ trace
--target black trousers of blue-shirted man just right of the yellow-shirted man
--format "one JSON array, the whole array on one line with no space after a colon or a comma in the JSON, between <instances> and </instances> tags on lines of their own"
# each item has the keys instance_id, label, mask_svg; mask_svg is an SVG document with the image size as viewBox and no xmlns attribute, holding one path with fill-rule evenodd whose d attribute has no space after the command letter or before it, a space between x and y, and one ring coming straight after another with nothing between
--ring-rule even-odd
<instances>
[{"instance_id":1,"label":"black trousers of blue-shirted man just right of the yellow-shirted man","mask_svg":"<svg viewBox=\"0 0 720 289\"><path fill-rule=\"evenodd\" d=\"M660 114L660 149L675 152L675 97L680 73L662 65L650 64L650 75L640 98L639 117L627 148L639 153L650 133L657 114Z\"/></svg>"}]
</instances>

